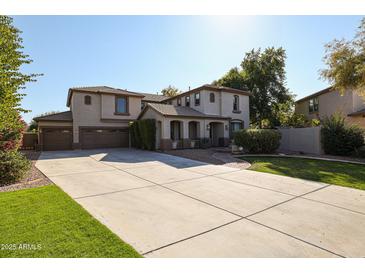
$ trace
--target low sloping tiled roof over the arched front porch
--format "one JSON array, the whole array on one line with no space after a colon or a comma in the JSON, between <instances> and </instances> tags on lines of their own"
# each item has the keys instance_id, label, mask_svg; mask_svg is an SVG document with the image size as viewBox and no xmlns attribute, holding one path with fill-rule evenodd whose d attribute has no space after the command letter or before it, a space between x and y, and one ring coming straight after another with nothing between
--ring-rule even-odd
<instances>
[{"instance_id":1,"label":"low sloping tiled roof over the arched front porch","mask_svg":"<svg viewBox=\"0 0 365 274\"><path fill-rule=\"evenodd\" d=\"M138 116L138 119L143 116L143 114L147 111L148 108L151 108L152 110L166 117L193 117L201 119L220 119L220 120L230 119L229 117L205 114L190 107L173 106L173 105L156 104L156 103L148 103Z\"/></svg>"}]
</instances>

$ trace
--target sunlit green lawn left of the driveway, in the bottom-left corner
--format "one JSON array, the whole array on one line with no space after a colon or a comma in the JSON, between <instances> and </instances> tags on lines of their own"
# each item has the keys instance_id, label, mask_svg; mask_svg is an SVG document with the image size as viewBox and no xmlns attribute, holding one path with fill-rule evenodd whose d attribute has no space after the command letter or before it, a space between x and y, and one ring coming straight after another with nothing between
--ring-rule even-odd
<instances>
[{"instance_id":1,"label":"sunlit green lawn left of the driveway, in the bottom-left corner","mask_svg":"<svg viewBox=\"0 0 365 274\"><path fill-rule=\"evenodd\" d=\"M54 185L0 193L0 245L0 257L140 257Z\"/></svg>"}]
</instances>

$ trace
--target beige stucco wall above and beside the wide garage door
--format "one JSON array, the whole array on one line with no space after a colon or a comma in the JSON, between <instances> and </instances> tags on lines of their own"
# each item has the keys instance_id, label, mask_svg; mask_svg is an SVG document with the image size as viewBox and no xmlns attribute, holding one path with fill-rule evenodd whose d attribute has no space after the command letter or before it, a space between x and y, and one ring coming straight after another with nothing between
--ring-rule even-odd
<instances>
[{"instance_id":1,"label":"beige stucco wall above and beside the wide garage door","mask_svg":"<svg viewBox=\"0 0 365 274\"><path fill-rule=\"evenodd\" d=\"M84 96L91 96L91 105L84 104ZM102 101L104 106L102 106ZM113 105L111 106L111 101ZM138 107L140 108L140 102ZM132 102L130 101L130 108L132 107ZM79 127L127 127L131 120L135 120L137 117L134 114L135 107L133 106L133 116L132 115L114 115L115 102L114 96L111 95L102 99L100 94L86 94L74 92L71 99L71 108L73 116L73 139L74 143L79 143ZM102 116L102 113L104 117ZM111 119L111 120L101 120L101 119Z\"/></svg>"}]
</instances>

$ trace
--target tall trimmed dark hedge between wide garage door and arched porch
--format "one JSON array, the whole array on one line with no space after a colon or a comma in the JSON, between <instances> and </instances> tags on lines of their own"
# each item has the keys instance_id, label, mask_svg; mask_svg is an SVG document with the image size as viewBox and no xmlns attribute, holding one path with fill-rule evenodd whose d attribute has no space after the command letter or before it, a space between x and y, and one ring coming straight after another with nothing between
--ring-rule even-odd
<instances>
[{"instance_id":1,"label":"tall trimmed dark hedge between wide garage door and arched porch","mask_svg":"<svg viewBox=\"0 0 365 274\"><path fill-rule=\"evenodd\" d=\"M156 120L146 119L134 121L129 125L131 143L135 148L156 149Z\"/></svg>"}]
</instances>

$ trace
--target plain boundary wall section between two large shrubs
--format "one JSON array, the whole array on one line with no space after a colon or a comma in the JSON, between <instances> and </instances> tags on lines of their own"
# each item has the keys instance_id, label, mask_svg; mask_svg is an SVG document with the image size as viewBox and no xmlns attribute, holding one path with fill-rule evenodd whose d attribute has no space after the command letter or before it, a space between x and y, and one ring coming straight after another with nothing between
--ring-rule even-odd
<instances>
[{"instance_id":1,"label":"plain boundary wall section between two large shrubs","mask_svg":"<svg viewBox=\"0 0 365 274\"><path fill-rule=\"evenodd\" d=\"M321 146L321 127L279 128L281 152L303 152L323 154Z\"/></svg>"}]
</instances>

